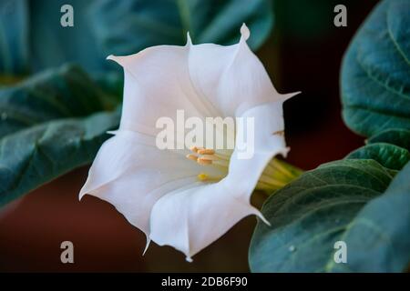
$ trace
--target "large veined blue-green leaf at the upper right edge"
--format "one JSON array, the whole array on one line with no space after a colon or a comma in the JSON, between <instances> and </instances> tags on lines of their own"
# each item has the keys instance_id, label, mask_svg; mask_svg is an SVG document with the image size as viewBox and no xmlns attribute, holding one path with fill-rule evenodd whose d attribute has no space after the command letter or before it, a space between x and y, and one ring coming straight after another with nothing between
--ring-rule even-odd
<instances>
[{"instance_id":1,"label":"large veined blue-green leaf at the upper right edge","mask_svg":"<svg viewBox=\"0 0 410 291\"><path fill-rule=\"evenodd\" d=\"M410 1L384 0L343 58L343 118L355 132L410 129Z\"/></svg>"}]
</instances>

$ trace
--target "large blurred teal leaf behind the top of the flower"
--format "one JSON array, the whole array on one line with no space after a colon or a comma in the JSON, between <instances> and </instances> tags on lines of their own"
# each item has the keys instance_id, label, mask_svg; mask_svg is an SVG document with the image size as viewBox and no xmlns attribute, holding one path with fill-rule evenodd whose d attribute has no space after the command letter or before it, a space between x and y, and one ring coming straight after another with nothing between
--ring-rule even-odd
<instances>
[{"instance_id":1,"label":"large blurred teal leaf behind the top of the flower","mask_svg":"<svg viewBox=\"0 0 410 291\"><path fill-rule=\"evenodd\" d=\"M74 8L73 27L60 25L64 4ZM88 72L118 70L106 56L134 54L152 45L185 45L187 31L194 43L232 44L243 22L255 49L272 28L271 0L36 0L30 8L36 70L67 61Z\"/></svg>"}]
</instances>

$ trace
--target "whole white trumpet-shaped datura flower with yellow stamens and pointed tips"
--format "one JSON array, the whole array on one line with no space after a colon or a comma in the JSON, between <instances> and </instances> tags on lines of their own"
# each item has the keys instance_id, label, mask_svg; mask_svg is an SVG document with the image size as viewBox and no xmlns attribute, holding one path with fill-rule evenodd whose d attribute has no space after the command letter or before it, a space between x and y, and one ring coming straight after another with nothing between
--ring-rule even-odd
<instances>
[{"instance_id":1,"label":"whole white trumpet-shaped datura flower with yellow stamens and pointed tips","mask_svg":"<svg viewBox=\"0 0 410 291\"><path fill-rule=\"evenodd\" d=\"M80 199L89 194L108 201L145 233L147 246L173 246L188 261L244 216L264 220L251 206L251 193L277 189L294 177L272 157L288 152L282 103L297 93L275 90L246 43L249 36L242 25L236 45L192 45L188 35L184 46L108 56L124 68L122 117L99 149ZM253 156L239 158L236 145L159 149L156 123L162 116L175 119L178 110L202 120L252 117Z\"/></svg>"}]
</instances>

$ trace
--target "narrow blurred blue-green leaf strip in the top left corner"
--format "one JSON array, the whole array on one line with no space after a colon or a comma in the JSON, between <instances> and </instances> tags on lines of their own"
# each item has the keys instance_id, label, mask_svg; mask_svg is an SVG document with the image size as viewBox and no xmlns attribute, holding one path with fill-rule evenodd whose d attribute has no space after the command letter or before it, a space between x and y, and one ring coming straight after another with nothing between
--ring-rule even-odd
<instances>
[{"instance_id":1,"label":"narrow blurred blue-green leaf strip in the top left corner","mask_svg":"<svg viewBox=\"0 0 410 291\"><path fill-rule=\"evenodd\" d=\"M27 15L25 0L0 1L0 75L24 74L29 68Z\"/></svg>"}]
</instances>

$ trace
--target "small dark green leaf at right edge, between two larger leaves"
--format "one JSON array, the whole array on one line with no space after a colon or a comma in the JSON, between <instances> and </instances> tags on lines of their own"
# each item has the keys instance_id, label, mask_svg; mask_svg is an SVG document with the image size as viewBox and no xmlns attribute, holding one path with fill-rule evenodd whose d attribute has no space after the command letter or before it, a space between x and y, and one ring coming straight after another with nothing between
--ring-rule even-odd
<instances>
[{"instance_id":1,"label":"small dark green leaf at right edge, between two larger leaves","mask_svg":"<svg viewBox=\"0 0 410 291\"><path fill-rule=\"evenodd\" d=\"M410 153L400 146L375 143L354 150L346 158L374 159L384 167L401 170L410 160Z\"/></svg>"}]
</instances>

